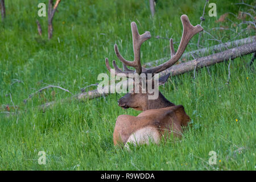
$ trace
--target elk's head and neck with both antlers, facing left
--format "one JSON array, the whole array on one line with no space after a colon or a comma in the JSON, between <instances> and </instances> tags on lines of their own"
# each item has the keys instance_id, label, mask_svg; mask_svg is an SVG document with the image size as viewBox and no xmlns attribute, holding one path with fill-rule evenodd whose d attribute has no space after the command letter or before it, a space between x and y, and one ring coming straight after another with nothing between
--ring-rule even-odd
<instances>
[{"instance_id":1,"label":"elk's head and neck with both antlers, facing left","mask_svg":"<svg viewBox=\"0 0 256 182\"><path fill-rule=\"evenodd\" d=\"M134 50L134 61L128 61L123 58L123 56L119 53L117 44L114 45L115 54L117 55L118 59L123 64L123 70L118 68L117 64L115 63L115 60L113 60L113 67L115 69L115 75L122 74L123 76L127 78L134 78L134 74L137 75L144 75L146 76L146 82L147 84L151 83L152 87L158 86L154 85L153 79L148 78L148 75L155 76L156 73L160 73L167 68L170 68L172 65L174 65L183 55L183 52L185 51L185 48L187 47L189 40L197 34L200 31L203 31L203 28L198 24L197 26L192 26L192 24L189 22L187 15L181 15L180 17L181 22L183 24L183 35L181 37L181 41L179 44L179 48L177 49L177 52L174 51L174 44L173 40L170 39L170 50L171 50L171 59L166 61L163 64L160 64L154 68L143 68L141 66L141 45L143 42L151 38L150 32L146 31L144 34L140 35L138 32L138 28L135 22L131 22L131 32L133 35L133 50ZM110 71L110 65L109 65L109 59L105 59L106 67ZM127 66L135 68L135 70L127 68ZM168 77L170 76L170 73L166 76L159 78L159 85L163 85L164 82L167 81ZM152 93L149 93L146 89L146 93L142 92L141 85L142 81L135 82L134 85L139 84L139 92L131 92L127 93L125 96L120 98L118 100L118 105L121 106L123 109L127 109L129 107L136 109L136 110L148 110L148 109L160 109L163 107L168 106L174 106L170 101L166 100L164 96L158 91L158 98L155 100L149 100L148 96ZM154 89L156 90L156 89Z\"/></svg>"}]
</instances>

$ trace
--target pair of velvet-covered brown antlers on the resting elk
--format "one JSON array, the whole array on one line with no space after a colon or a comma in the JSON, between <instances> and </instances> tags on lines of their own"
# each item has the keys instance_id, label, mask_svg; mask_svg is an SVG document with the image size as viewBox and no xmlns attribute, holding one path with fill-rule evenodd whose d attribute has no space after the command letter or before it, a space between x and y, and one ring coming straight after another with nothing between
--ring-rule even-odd
<instances>
[{"instance_id":1,"label":"pair of velvet-covered brown antlers on the resting elk","mask_svg":"<svg viewBox=\"0 0 256 182\"><path fill-rule=\"evenodd\" d=\"M123 58L123 56L119 53L117 44L114 46L115 54L117 55L118 59L123 63L123 71L118 68L117 64L115 64L115 60L113 60L113 67L115 68L115 75L118 73L124 73L126 77L129 77L129 73L138 73L139 75L141 73L152 73L153 75L155 73L159 73L164 71L167 68L170 68L172 65L174 65L180 57L183 55L185 48L187 47L189 40L192 39L192 37L197 34L200 31L203 31L203 28L197 24L197 26L192 26L192 24L189 22L187 15L181 15L180 17L182 25L183 25L183 34L180 40L179 48L177 49L177 52L174 51L174 44L173 40L170 39L170 49L171 49L171 59L168 60L166 63L160 64L154 68L146 69L141 67L141 45L143 42L145 42L147 39L151 38L150 32L146 31L144 34L139 35L138 28L135 22L131 22L131 32L133 34L133 50L134 50L134 61L127 61ZM106 58L106 67L110 71L110 65L109 65L109 59ZM126 65L130 67L135 68L135 72L131 69L128 69Z\"/></svg>"}]
</instances>

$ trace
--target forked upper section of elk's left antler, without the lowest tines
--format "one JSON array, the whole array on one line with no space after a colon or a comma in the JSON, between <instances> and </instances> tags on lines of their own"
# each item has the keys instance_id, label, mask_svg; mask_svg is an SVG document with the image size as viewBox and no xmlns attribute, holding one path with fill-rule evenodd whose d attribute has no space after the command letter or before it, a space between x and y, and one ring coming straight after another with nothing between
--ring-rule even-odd
<instances>
[{"instance_id":1,"label":"forked upper section of elk's left antler, without the lowest tines","mask_svg":"<svg viewBox=\"0 0 256 182\"><path fill-rule=\"evenodd\" d=\"M134 51L134 61L127 61L123 58L123 56L119 53L117 44L114 46L115 54L118 59L125 65L130 67L134 67L136 73L141 74L141 45L143 42L151 38L150 32L146 31L144 34L139 35L139 31L137 28L137 24L135 22L131 22L131 33L133 35L133 51ZM124 68L126 69L126 68Z\"/></svg>"}]
</instances>

